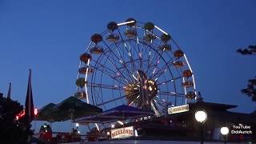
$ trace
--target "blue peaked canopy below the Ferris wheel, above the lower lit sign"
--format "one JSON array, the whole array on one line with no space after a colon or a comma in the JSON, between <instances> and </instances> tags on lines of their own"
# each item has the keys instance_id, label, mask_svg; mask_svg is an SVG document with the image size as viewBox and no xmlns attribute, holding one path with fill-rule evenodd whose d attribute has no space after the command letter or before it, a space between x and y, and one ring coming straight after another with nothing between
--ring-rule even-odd
<instances>
[{"instance_id":1,"label":"blue peaked canopy below the Ferris wheel, above the lower lit sign","mask_svg":"<svg viewBox=\"0 0 256 144\"><path fill-rule=\"evenodd\" d=\"M142 118L149 115L153 115L151 111L141 110L132 106L117 106L113 109L106 110L98 115L86 116L82 118L75 119L75 122L81 123L110 123L116 122L118 120Z\"/></svg>"}]
</instances>

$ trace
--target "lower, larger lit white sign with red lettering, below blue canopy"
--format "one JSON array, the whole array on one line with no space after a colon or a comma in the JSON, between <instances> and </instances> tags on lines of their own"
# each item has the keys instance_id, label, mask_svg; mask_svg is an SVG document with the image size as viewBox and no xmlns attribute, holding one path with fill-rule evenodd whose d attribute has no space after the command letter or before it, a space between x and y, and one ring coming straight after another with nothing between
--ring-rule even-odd
<instances>
[{"instance_id":1,"label":"lower, larger lit white sign with red lettering, below blue canopy","mask_svg":"<svg viewBox=\"0 0 256 144\"><path fill-rule=\"evenodd\" d=\"M111 138L129 138L134 136L134 126L111 130Z\"/></svg>"}]
</instances>

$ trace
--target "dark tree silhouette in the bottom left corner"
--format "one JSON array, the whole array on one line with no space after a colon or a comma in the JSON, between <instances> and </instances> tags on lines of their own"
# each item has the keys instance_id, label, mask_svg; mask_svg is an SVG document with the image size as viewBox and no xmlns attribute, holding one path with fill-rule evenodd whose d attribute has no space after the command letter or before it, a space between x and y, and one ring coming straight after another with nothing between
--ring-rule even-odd
<instances>
[{"instance_id":1,"label":"dark tree silhouette in the bottom left corner","mask_svg":"<svg viewBox=\"0 0 256 144\"><path fill-rule=\"evenodd\" d=\"M31 131L27 131L23 119L16 119L23 106L10 98L0 97L0 140L1 143L26 143Z\"/></svg>"}]
</instances>

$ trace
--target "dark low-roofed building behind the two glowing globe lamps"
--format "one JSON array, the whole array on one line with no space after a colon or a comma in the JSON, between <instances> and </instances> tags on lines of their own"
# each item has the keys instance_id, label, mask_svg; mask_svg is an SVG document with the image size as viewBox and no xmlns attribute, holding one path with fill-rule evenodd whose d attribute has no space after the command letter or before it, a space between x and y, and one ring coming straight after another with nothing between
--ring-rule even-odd
<instances>
[{"instance_id":1,"label":"dark low-roofed building behind the two glowing globe lamps","mask_svg":"<svg viewBox=\"0 0 256 144\"><path fill-rule=\"evenodd\" d=\"M138 130L138 135L141 136L138 138L142 139L198 141L201 137L201 127L195 119L195 112L204 110L207 114L206 122L202 127L205 140L223 140L220 129L226 126L230 130L227 134L228 141L255 142L256 114L229 111L229 109L235 107L237 106L212 102L194 102L183 107L169 108L169 114L166 116L152 117L147 120L129 123L127 126L134 126L134 129ZM170 109L173 109L173 111ZM247 126L247 129L241 128L241 134L238 134L239 128L235 128L238 126Z\"/></svg>"}]
</instances>

